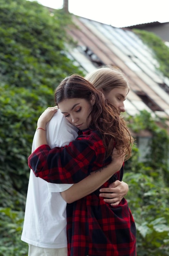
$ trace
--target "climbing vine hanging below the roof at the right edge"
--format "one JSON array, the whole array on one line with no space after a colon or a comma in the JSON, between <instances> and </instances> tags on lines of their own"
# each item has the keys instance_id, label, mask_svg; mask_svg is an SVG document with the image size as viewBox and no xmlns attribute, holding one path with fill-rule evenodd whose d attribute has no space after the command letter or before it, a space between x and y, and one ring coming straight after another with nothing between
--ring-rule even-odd
<instances>
[{"instance_id":1,"label":"climbing vine hanging below the roof at the right edge","mask_svg":"<svg viewBox=\"0 0 169 256\"><path fill-rule=\"evenodd\" d=\"M144 160L144 165L149 166L159 175L165 177L165 183L169 184L169 135L164 120L153 119L146 110L140 111L139 115L128 117L129 127L139 134L141 130L148 130L151 134L149 150ZM163 124L160 128L159 121Z\"/></svg>"}]
</instances>

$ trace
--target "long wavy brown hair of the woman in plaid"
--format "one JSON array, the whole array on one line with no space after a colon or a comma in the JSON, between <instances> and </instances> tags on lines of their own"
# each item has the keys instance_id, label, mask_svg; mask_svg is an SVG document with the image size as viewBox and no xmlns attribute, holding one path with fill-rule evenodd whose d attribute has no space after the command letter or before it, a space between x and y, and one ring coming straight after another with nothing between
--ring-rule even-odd
<instances>
[{"instance_id":1,"label":"long wavy brown hair of the woman in plaid","mask_svg":"<svg viewBox=\"0 0 169 256\"><path fill-rule=\"evenodd\" d=\"M98 130L103 138L106 149L105 157L112 155L114 146L125 154L125 160L132 155L133 138L120 112L105 100L104 94L78 74L66 77L55 90L55 103L58 105L64 99L80 98L90 103L91 97L95 103L90 112L90 129ZM120 151L119 151L120 152Z\"/></svg>"}]
</instances>

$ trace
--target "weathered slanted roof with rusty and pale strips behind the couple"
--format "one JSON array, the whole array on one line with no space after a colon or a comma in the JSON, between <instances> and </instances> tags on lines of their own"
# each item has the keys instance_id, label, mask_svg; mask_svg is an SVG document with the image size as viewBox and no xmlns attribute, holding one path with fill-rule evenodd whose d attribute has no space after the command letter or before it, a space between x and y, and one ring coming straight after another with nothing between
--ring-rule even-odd
<instances>
[{"instance_id":1,"label":"weathered slanted roof with rusty and pale strips behind the couple","mask_svg":"<svg viewBox=\"0 0 169 256\"><path fill-rule=\"evenodd\" d=\"M129 29L121 29L87 18L73 16L78 28L68 33L77 41L70 54L86 73L100 65L119 67L127 76L131 92L126 112L135 115L147 110L169 119L169 79L158 70L158 62L140 38Z\"/></svg>"}]
</instances>

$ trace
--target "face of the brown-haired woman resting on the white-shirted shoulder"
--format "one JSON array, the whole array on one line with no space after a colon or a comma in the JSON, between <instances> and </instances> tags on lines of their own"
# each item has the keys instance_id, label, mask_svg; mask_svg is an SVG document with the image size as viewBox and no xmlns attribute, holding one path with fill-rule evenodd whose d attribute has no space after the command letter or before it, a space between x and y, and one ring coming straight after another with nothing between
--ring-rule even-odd
<instances>
[{"instance_id":1,"label":"face of the brown-haired woman resting on the white-shirted shoulder","mask_svg":"<svg viewBox=\"0 0 169 256\"><path fill-rule=\"evenodd\" d=\"M79 130L85 130L91 121L91 116L87 120L93 106L94 101L86 101L85 99L74 98L65 99L58 103L59 109L64 117Z\"/></svg>"}]
</instances>

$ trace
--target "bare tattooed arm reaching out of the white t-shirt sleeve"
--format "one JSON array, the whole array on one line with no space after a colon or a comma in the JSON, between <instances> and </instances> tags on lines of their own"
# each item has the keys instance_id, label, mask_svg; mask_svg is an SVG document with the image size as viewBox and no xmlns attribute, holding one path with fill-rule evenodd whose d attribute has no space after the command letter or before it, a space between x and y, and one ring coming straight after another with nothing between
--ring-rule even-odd
<instances>
[{"instance_id":1,"label":"bare tattooed arm reaching out of the white t-shirt sleeve","mask_svg":"<svg viewBox=\"0 0 169 256\"><path fill-rule=\"evenodd\" d=\"M114 153L116 149L114 149ZM114 157L112 162L99 169L97 172L92 172L88 177L74 184L66 191L61 192L61 196L67 203L75 202L86 195L99 189L114 173L120 170L124 161L124 156Z\"/></svg>"}]
</instances>

